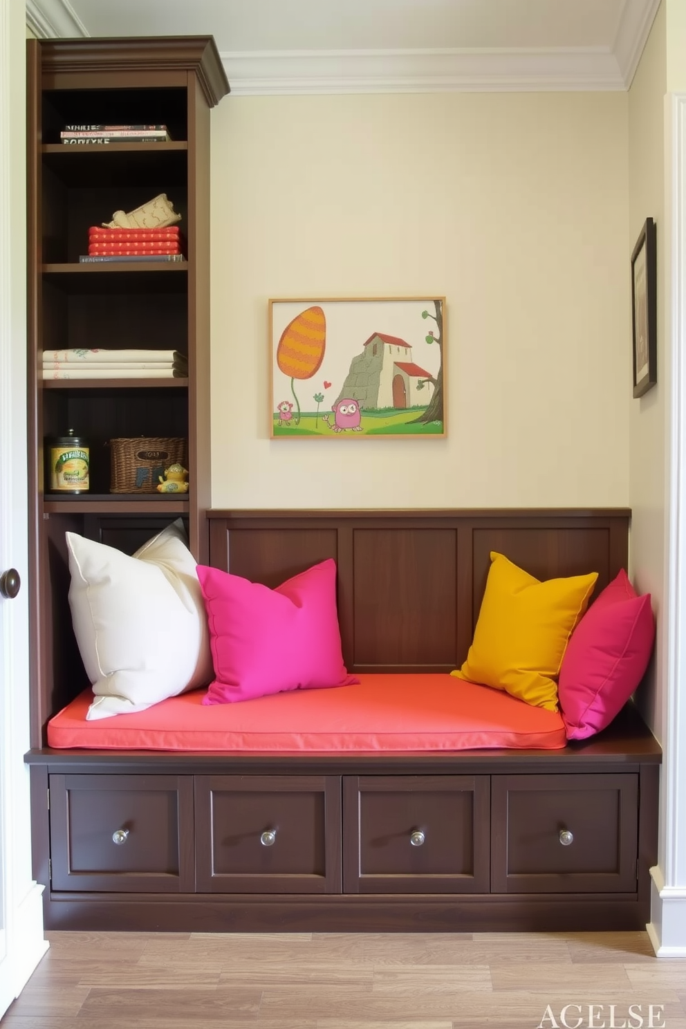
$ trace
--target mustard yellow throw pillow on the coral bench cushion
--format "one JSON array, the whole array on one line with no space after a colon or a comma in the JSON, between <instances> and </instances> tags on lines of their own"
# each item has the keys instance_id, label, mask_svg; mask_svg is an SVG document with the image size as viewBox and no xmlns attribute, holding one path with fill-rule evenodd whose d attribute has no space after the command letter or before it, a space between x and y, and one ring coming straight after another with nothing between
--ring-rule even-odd
<instances>
[{"instance_id":1,"label":"mustard yellow throw pillow on the coral bench cushion","mask_svg":"<svg viewBox=\"0 0 686 1029\"><path fill-rule=\"evenodd\" d=\"M467 661L452 672L557 710L559 666L598 572L541 582L491 552L491 568Z\"/></svg>"}]
</instances>

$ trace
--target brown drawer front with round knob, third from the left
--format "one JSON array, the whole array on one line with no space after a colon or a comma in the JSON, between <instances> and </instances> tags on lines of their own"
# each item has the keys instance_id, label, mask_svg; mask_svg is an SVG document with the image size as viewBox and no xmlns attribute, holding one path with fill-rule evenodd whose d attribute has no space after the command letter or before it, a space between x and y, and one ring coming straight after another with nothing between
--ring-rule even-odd
<instances>
[{"instance_id":1,"label":"brown drawer front with round knob, third from the left","mask_svg":"<svg viewBox=\"0 0 686 1029\"><path fill-rule=\"evenodd\" d=\"M488 893L488 776L346 776L347 893Z\"/></svg>"}]
</instances>

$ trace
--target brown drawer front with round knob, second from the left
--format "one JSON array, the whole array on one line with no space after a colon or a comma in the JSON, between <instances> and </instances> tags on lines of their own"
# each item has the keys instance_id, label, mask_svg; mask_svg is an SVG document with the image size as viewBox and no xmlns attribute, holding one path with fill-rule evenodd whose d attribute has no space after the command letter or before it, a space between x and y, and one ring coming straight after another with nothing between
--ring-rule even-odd
<instances>
[{"instance_id":1,"label":"brown drawer front with round knob, second from the left","mask_svg":"<svg viewBox=\"0 0 686 1029\"><path fill-rule=\"evenodd\" d=\"M339 893L339 776L196 776L197 889Z\"/></svg>"}]
</instances>

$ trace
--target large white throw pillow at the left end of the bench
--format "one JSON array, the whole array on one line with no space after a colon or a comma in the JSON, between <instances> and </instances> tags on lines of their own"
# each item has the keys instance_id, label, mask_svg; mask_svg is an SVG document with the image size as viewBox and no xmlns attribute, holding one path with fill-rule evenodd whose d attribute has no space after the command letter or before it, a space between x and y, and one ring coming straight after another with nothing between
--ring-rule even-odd
<instances>
[{"instance_id":1,"label":"large white throw pillow at the left end of the bench","mask_svg":"<svg viewBox=\"0 0 686 1029\"><path fill-rule=\"evenodd\" d=\"M87 720L144 711L213 678L205 602L181 519L129 557L66 533L69 604L96 700Z\"/></svg>"}]
</instances>

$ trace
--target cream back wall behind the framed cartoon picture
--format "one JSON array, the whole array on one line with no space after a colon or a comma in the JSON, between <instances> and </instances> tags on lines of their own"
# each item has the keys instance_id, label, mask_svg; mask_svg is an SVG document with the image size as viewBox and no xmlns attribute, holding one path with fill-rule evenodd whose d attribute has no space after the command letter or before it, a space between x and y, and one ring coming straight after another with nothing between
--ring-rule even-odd
<instances>
[{"instance_id":1,"label":"cream back wall behind the framed cartoon picture","mask_svg":"<svg viewBox=\"0 0 686 1029\"><path fill-rule=\"evenodd\" d=\"M626 505L627 109L623 93L223 100L213 505ZM417 294L446 297L446 439L269 440L269 297Z\"/></svg>"}]
</instances>

